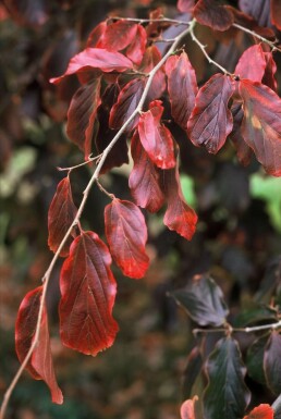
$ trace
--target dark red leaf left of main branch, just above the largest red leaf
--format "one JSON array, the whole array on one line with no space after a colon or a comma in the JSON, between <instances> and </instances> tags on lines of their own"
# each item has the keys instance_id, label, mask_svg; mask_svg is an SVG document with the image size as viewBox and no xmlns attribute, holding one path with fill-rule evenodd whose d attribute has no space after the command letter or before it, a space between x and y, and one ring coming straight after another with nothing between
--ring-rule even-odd
<instances>
[{"instance_id":1,"label":"dark red leaf left of main branch, just above the largest red leaf","mask_svg":"<svg viewBox=\"0 0 281 419\"><path fill-rule=\"evenodd\" d=\"M64 177L58 185L48 212L48 245L56 252L71 226L77 209L72 199L70 178ZM60 256L69 255L72 237L64 244Z\"/></svg>"}]
</instances>

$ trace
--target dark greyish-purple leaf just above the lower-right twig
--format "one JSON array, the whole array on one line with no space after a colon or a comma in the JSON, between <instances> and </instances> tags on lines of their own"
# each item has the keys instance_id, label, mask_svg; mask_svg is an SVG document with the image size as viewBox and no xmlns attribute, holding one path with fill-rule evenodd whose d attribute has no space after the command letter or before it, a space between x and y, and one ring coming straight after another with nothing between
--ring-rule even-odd
<instances>
[{"instance_id":1,"label":"dark greyish-purple leaf just above the lower-right twig","mask_svg":"<svg viewBox=\"0 0 281 419\"><path fill-rule=\"evenodd\" d=\"M220 326L227 321L229 309L221 288L208 275L195 275L184 288L171 295L201 326Z\"/></svg>"}]
</instances>

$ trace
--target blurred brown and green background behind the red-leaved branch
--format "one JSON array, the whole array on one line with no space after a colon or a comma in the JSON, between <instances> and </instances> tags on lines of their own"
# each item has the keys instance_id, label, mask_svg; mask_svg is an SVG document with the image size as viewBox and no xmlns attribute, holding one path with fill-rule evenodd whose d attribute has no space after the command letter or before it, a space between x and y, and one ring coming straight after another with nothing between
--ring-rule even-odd
<instances>
[{"instance_id":1,"label":"blurred brown and green background behind the red-leaved branch","mask_svg":"<svg viewBox=\"0 0 281 419\"><path fill-rule=\"evenodd\" d=\"M175 17L175 1L152 0L11 0L0 1L0 393L19 368L14 352L14 322L23 296L40 284L51 252L47 246L47 214L58 182L57 167L83 161L65 136L65 115L77 88L58 89L49 78L61 75L73 54L85 46L90 30L110 13L147 17L162 7ZM229 2L237 5L236 1ZM269 1L254 17L269 22ZM259 14L258 14L259 13ZM251 38L234 39L200 30L210 53L231 71ZM203 84L215 69L186 40L186 50ZM280 58L277 56L279 69ZM280 71L277 74L280 81ZM170 120L169 113L167 118ZM192 324L167 297L197 273L210 271L231 306L231 316L247 307L258 291L280 282L281 180L269 177L253 159L237 162L229 141L217 156L186 139L171 121L181 147L181 182L187 202L199 217L191 243L162 225L163 213L148 215L147 251L151 266L139 281L118 281L114 318L120 332L112 348L96 358L62 347L58 333L57 263L48 293L51 344L64 404L51 404L48 389L24 374L9 408L13 419L175 419L183 399L183 373L193 346ZM107 188L131 199L130 165L102 177ZM74 201L80 202L90 175L82 168L72 175ZM83 225L103 236L108 198L90 193ZM272 285L273 284L273 285ZM260 287L261 286L261 287ZM260 291L261 289L261 291ZM242 347L248 341L242 338ZM262 385L248 379L253 404L271 402Z\"/></svg>"}]
</instances>

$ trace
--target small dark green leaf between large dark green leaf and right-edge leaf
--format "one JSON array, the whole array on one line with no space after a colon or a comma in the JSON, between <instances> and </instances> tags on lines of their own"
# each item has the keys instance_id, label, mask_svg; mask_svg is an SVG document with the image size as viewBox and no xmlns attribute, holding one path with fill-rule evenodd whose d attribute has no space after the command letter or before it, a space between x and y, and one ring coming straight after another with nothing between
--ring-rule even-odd
<instances>
[{"instance_id":1,"label":"small dark green leaf between large dark green leaf and right-edge leaf","mask_svg":"<svg viewBox=\"0 0 281 419\"><path fill-rule=\"evenodd\" d=\"M257 338L248 348L246 366L248 375L260 384L266 384L264 370L265 347L268 342L269 333Z\"/></svg>"}]
</instances>

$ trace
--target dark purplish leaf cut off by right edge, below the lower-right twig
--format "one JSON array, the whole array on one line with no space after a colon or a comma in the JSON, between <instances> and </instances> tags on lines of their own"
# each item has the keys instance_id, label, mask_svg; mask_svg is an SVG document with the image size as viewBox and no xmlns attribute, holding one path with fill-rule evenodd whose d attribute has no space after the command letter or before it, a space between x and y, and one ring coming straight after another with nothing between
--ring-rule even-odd
<instances>
[{"instance_id":1,"label":"dark purplish leaf cut off by right edge, below the lower-right twig","mask_svg":"<svg viewBox=\"0 0 281 419\"><path fill-rule=\"evenodd\" d=\"M272 331L265 352L264 368L267 385L274 394L281 393L281 335Z\"/></svg>"}]
</instances>

